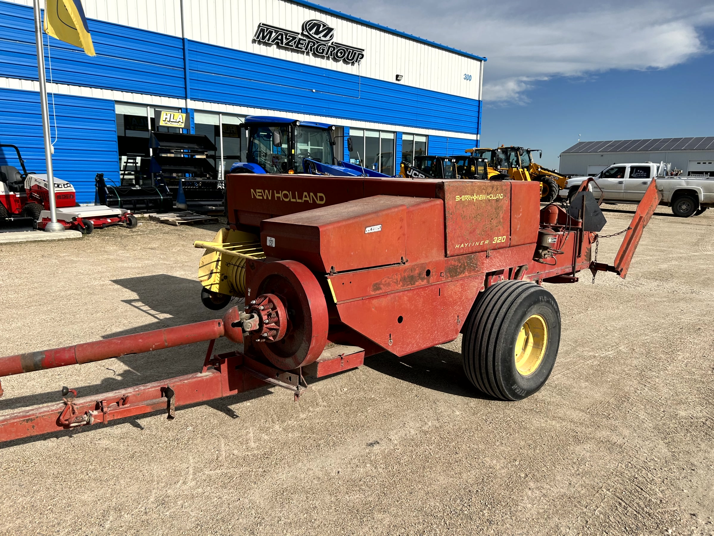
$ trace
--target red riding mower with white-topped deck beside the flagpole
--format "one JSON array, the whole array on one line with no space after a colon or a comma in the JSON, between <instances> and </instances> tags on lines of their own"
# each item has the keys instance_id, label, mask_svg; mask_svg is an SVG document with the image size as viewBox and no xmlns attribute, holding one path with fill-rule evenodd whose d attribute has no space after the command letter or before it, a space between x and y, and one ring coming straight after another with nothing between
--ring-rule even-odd
<instances>
[{"instance_id":1,"label":"red riding mower with white-topped deck beside the flagpole","mask_svg":"<svg viewBox=\"0 0 714 536\"><path fill-rule=\"evenodd\" d=\"M14 166L0 166L0 225L18 217L36 222L44 229L50 222L49 189L47 174L27 172L20 149L11 144L17 154L22 172ZM91 233L96 227L126 224L129 229L138 225L136 216L125 209L112 209L105 205L81 207L76 202L76 192L71 183L54 177L54 198L57 222L65 229L75 229L82 234Z\"/></svg>"}]
</instances>

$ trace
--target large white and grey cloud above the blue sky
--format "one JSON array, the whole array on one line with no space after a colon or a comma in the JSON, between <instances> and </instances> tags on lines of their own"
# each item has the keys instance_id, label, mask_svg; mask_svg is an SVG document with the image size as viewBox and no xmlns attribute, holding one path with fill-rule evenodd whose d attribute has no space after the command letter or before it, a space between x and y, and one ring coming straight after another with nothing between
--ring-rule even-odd
<instances>
[{"instance_id":1,"label":"large white and grey cloud above the blue sky","mask_svg":"<svg viewBox=\"0 0 714 536\"><path fill-rule=\"evenodd\" d=\"M528 100L533 81L609 69L665 69L708 51L708 1L319 0L323 6L488 57L483 96Z\"/></svg>"}]
</instances>

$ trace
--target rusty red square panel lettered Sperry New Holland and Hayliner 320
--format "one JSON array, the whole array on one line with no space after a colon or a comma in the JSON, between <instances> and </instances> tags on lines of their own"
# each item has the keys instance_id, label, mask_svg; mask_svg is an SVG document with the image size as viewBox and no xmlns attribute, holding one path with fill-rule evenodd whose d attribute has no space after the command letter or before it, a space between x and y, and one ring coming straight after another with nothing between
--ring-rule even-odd
<instances>
[{"instance_id":1,"label":"rusty red square panel lettered Sperry New Holland and Hayliner 320","mask_svg":"<svg viewBox=\"0 0 714 536\"><path fill-rule=\"evenodd\" d=\"M445 181L441 194L447 257L510 245L510 181Z\"/></svg>"}]
</instances>

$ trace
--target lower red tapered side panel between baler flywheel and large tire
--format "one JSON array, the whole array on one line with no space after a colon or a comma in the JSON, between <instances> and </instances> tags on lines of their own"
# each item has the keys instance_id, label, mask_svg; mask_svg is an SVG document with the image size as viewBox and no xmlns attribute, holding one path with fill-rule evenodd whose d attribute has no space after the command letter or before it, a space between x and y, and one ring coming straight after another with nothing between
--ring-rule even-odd
<instances>
[{"instance_id":1,"label":"lower red tapered side panel between baler flywheel and large tire","mask_svg":"<svg viewBox=\"0 0 714 536\"><path fill-rule=\"evenodd\" d=\"M342 322L393 354L406 355L458 336L483 274L341 303Z\"/></svg>"}]
</instances>

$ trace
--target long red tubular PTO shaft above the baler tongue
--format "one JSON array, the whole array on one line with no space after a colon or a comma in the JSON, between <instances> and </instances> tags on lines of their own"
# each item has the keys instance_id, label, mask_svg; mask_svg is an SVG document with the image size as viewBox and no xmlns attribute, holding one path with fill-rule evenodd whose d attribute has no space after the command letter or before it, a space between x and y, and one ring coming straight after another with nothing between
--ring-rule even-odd
<instances>
[{"instance_id":1,"label":"long red tubular PTO shaft above the baler tongue","mask_svg":"<svg viewBox=\"0 0 714 536\"><path fill-rule=\"evenodd\" d=\"M238 322L242 320L241 317L246 317L246 315L238 313L236 307L231 307L223 319L183 324L183 326L167 327L166 329L155 329L151 332L84 342L64 348L0 357L0 377L34 370L65 367L68 364L101 361L102 359L121 357L126 354L142 354L162 348L192 344L193 342L210 341L224 335L233 342L242 343L242 322Z\"/></svg>"}]
</instances>

